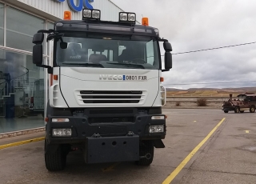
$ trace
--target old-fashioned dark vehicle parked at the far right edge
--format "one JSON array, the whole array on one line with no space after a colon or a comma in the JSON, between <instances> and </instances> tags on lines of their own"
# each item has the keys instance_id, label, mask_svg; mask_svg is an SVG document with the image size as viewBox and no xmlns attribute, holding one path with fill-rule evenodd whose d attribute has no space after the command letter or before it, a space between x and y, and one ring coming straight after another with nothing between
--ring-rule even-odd
<instances>
[{"instance_id":1,"label":"old-fashioned dark vehicle parked at the far right edge","mask_svg":"<svg viewBox=\"0 0 256 184\"><path fill-rule=\"evenodd\" d=\"M249 110L250 113L255 112L256 106L256 94L245 93L238 94L238 99L233 99L232 94L230 94L230 99L227 102L223 102L222 110L224 113L233 111L234 113L243 113L245 110Z\"/></svg>"}]
</instances>

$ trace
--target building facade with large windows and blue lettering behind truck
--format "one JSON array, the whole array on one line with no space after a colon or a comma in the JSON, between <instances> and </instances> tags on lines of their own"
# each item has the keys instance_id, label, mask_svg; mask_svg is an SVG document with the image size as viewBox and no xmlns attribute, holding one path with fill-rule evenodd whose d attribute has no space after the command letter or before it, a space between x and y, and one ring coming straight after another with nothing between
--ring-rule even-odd
<instances>
[{"instance_id":1,"label":"building facade with large windows and blue lettering behind truck","mask_svg":"<svg viewBox=\"0 0 256 184\"><path fill-rule=\"evenodd\" d=\"M123 11L110 0L0 0L0 134L44 126L48 74L32 62L32 38L53 29L65 10L82 19L84 7L101 10L109 21ZM45 43L45 62L48 53Z\"/></svg>"}]
</instances>

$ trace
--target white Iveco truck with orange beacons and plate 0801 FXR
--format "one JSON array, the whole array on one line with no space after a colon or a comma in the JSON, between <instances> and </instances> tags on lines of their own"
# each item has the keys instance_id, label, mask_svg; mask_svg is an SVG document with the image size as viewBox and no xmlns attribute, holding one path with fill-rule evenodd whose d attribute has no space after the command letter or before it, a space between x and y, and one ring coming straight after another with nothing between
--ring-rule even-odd
<instances>
[{"instance_id":1,"label":"white Iveco truck with orange beacons and plate 0801 FXR","mask_svg":"<svg viewBox=\"0 0 256 184\"><path fill-rule=\"evenodd\" d=\"M154 148L165 147L162 72L172 68L172 47L147 18L142 25L134 13L120 12L117 18L102 21L100 10L85 9L81 20L72 20L66 11L53 30L34 34L33 63L50 76L47 170L63 170L73 150L81 150L87 164L149 166ZM52 50L47 64L45 36Z\"/></svg>"}]
</instances>

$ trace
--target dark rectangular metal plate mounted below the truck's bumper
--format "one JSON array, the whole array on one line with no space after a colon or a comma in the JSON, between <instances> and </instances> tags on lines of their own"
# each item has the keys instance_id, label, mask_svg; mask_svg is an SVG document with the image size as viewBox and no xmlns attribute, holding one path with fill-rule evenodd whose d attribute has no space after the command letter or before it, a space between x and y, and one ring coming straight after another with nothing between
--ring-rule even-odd
<instances>
[{"instance_id":1,"label":"dark rectangular metal plate mounted below the truck's bumper","mask_svg":"<svg viewBox=\"0 0 256 184\"><path fill-rule=\"evenodd\" d=\"M139 137L87 138L85 152L86 163L138 161Z\"/></svg>"}]
</instances>

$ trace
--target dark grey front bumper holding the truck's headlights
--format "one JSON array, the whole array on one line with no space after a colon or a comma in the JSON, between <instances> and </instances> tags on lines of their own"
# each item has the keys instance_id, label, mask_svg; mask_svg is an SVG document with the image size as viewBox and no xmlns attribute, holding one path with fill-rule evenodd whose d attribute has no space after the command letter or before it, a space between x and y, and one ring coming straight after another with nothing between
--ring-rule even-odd
<instances>
[{"instance_id":1,"label":"dark grey front bumper holding the truck's headlights","mask_svg":"<svg viewBox=\"0 0 256 184\"><path fill-rule=\"evenodd\" d=\"M138 135L140 140L164 139L166 136L166 119L151 119L152 116L164 114L138 114L134 122L90 122L90 118L66 116L49 116L46 123L46 139L52 144L72 144L87 142L87 138L121 137L127 134ZM68 118L69 122L52 122L53 118ZM164 126L163 133L150 134L150 126ZM71 129L70 137L53 137L53 129Z\"/></svg>"}]
</instances>

